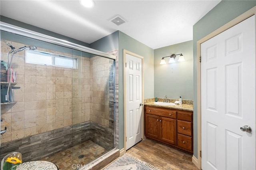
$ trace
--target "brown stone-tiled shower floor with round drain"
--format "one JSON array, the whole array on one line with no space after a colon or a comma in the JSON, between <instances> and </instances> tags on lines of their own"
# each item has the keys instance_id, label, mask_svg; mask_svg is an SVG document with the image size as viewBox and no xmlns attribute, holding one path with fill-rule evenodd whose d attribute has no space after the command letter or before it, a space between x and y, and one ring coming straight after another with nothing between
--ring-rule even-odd
<instances>
[{"instance_id":1,"label":"brown stone-tiled shower floor with round drain","mask_svg":"<svg viewBox=\"0 0 256 170\"><path fill-rule=\"evenodd\" d=\"M106 150L104 148L91 140L88 140L82 144L73 146L72 148L52 154L42 160L56 164L59 170L76 170L76 164L79 164L78 166L84 166L105 152ZM82 154L84 155L84 158L78 158L78 156Z\"/></svg>"}]
</instances>

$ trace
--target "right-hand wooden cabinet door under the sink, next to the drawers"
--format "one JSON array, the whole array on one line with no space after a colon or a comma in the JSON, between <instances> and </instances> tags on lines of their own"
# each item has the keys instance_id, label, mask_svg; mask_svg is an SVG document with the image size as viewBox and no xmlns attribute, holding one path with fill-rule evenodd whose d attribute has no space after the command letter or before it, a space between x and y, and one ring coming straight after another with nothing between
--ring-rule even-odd
<instances>
[{"instance_id":1,"label":"right-hand wooden cabinet door under the sink, next to the drawers","mask_svg":"<svg viewBox=\"0 0 256 170\"><path fill-rule=\"evenodd\" d=\"M160 117L161 140L170 144L177 144L176 119Z\"/></svg>"}]
</instances>

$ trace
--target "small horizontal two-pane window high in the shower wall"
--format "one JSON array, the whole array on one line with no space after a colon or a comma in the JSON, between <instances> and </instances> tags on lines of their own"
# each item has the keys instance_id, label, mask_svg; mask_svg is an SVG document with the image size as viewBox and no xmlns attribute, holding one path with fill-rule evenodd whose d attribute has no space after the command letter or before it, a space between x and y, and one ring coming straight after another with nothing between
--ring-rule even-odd
<instances>
[{"instance_id":1,"label":"small horizontal two-pane window high in the shower wall","mask_svg":"<svg viewBox=\"0 0 256 170\"><path fill-rule=\"evenodd\" d=\"M66 67L77 69L77 58L67 57L52 53L46 53L43 51L30 51L25 52L26 63L52 65L56 67Z\"/></svg>"}]
</instances>

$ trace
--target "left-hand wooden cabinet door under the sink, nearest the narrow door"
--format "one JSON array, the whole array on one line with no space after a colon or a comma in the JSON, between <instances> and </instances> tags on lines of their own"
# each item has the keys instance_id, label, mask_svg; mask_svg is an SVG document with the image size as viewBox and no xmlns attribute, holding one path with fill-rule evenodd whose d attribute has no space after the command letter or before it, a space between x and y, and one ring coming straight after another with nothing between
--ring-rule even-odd
<instances>
[{"instance_id":1,"label":"left-hand wooden cabinet door under the sink, nearest the narrow door","mask_svg":"<svg viewBox=\"0 0 256 170\"><path fill-rule=\"evenodd\" d=\"M146 136L159 139L159 116L145 114Z\"/></svg>"}]
</instances>

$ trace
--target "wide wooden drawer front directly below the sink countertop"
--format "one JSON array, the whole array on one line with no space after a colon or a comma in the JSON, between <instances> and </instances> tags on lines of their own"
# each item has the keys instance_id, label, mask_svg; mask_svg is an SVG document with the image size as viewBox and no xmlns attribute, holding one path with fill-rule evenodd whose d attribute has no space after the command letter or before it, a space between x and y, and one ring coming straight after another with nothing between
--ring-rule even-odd
<instances>
[{"instance_id":1,"label":"wide wooden drawer front directly below the sink countertop","mask_svg":"<svg viewBox=\"0 0 256 170\"><path fill-rule=\"evenodd\" d=\"M151 114L151 115L158 115L158 116L163 116L163 117L176 119L176 111L173 111L171 109L146 106L145 107L145 112L148 113L148 114Z\"/></svg>"}]
</instances>

